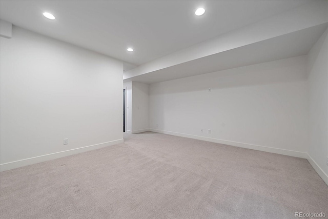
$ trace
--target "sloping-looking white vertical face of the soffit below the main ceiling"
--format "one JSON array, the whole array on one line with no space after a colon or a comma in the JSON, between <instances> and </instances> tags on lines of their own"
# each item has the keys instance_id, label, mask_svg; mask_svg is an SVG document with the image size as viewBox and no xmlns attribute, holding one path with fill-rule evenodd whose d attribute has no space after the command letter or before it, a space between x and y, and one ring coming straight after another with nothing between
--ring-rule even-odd
<instances>
[{"instance_id":1,"label":"sloping-looking white vertical face of the soffit below the main ceiling","mask_svg":"<svg viewBox=\"0 0 328 219\"><path fill-rule=\"evenodd\" d=\"M309 4L303 4L254 24L219 35L209 41L139 65L132 70L126 71L124 79L325 24L328 22L327 7L327 1L312 1Z\"/></svg>"}]
</instances>

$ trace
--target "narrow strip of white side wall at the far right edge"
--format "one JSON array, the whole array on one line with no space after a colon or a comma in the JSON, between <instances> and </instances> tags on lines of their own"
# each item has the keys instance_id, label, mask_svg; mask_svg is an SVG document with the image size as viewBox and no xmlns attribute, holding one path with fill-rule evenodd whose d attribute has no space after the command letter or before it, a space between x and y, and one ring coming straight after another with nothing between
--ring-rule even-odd
<instances>
[{"instance_id":1,"label":"narrow strip of white side wall at the far right edge","mask_svg":"<svg viewBox=\"0 0 328 219\"><path fill-rule=\"evenodd\" d=\"M309 149L328 182L328 37L326 30L308 54L309 72ZM313 165L314 166L314 165ZM314 166L315 167L315 166ZM320 175L322 178L324 176ZM327 183L328 184L328 183Z\"/></svg>"}]
</instances>

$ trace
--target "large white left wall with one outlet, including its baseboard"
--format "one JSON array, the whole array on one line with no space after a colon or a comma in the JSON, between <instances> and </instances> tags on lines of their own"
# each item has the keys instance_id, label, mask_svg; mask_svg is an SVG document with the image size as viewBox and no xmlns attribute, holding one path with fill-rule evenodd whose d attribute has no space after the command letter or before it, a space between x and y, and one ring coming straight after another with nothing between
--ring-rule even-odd
<instances>
[{"instance_id":1,"label":"large white left wall with one outlet, including its baseboard","mask_svg":"<svg viewBox=\"0 0 328 219\"><path fill-rule=\"evenodd\" d=\"M1 170L122 142L121 62L18 27L0 61Z\"/></svg>"}]
</instances>

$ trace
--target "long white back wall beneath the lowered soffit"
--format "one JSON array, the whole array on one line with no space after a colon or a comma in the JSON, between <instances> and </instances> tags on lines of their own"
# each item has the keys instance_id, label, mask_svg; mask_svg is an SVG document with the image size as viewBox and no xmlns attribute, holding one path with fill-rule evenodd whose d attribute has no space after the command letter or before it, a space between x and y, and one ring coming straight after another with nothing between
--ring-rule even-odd
<instances>
[{"instance_id":1,"label":"long white back wall beneath the lowered soffit","mask_svg":"<svg viewBox=\"0 0 328 219\"><path fill-rule=\"evenodd\" d=\"M306 157L306 56L151 84L149 95L151 131Z\"/></svg>"}]
</instances>

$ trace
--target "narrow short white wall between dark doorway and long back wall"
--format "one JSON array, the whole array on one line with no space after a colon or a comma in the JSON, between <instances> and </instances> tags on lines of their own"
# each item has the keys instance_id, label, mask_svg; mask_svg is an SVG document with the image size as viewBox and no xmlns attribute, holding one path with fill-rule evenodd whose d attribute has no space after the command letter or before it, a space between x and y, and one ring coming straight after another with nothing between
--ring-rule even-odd
<instances>
[{"instance_id":1,"label":"narrow short white wall between dark doorway and long back wall","mask_svg":"<svg viewBox=\"0 0 328 219\"><path fill-rule=\"evenodd\" d=\"M149 130L149 85L132 82L132 133Z\"/></svg>"}]
</instances>

